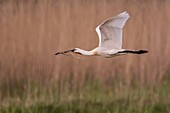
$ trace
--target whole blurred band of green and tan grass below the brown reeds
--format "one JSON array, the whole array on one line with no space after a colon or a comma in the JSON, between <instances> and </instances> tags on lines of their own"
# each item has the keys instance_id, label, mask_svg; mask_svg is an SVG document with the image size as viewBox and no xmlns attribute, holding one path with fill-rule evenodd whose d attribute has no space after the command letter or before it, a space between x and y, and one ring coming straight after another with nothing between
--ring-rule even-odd
<instances>
[{"instance_id":1,"label":"whole blurred band of green and tan grass below the brown reeds","mask_svg":"<svg viewBox=\"0 0 170 113\"><path fill-rule=\"evenodd\" d=\"M48 86L16 82L11 88L4 83L0 113L169 113L170 78L166 77L156 85L134 82L131 86L87 79L79 88L68 80Z\"/></svg>"}]
</instances>

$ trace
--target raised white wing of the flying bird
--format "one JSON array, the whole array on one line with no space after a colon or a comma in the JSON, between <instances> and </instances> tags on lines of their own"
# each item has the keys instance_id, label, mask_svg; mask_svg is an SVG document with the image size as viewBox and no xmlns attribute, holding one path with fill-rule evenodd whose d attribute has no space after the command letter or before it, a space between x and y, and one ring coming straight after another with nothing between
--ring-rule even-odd
<instances>
[{"instance_id":1,"label":"raised white wing of the flying bird","mask_svg":"<svg viewBox=\"0 0 170 113\"><path fill-rule=\"evenodd\" d=\"M125 11L101 23L96 32L99 37L99 47L108 50L122 48L122 28L129 18Z\"/></svg>"}]
</instances>

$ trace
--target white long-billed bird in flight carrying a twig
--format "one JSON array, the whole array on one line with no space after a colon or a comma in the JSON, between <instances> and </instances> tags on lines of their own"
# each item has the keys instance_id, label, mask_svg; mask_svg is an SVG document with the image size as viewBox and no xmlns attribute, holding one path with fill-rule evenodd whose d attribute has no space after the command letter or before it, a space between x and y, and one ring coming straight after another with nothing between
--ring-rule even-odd
<instances>
[{"instance_id":1,"label":"white long-billed bird in flight carrying a twig","mask_svg":"<svg viewBox=\"0 0 170 113\"><path fill-rule=\"evenodd\" d=\"M96 32L99 37L99 45L91 51L74 48L62 52L57 52L55 55L65 54L69 52L86 55L86 56L104 56L107 58L125 55L125 54L143 54L147 50L128 50L122 49L122 28L129 19L129 14L125 11L115 17L106 19L97 28Z\"/></svg>"}]
</instances>

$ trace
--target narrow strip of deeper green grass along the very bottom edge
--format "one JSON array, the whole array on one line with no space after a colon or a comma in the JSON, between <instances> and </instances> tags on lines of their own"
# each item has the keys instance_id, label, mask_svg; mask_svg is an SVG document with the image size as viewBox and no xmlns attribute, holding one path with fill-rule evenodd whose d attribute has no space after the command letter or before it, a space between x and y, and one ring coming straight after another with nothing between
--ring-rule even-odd
<instances>
[{"instance_id":1,"label":"narrow strip of deeper green grass along the very bottom edge","mask_svg":"<svg viewBox=\"0 0 170 113\"><path fill-rule=\"evenodd\" d=\"M72 101L68 103L39 103L26 108L11 106L2 108L1 113L169 113L170 105L154 103L139 107L126 100L115 102Z\"/></svg>"}]
</instances>

